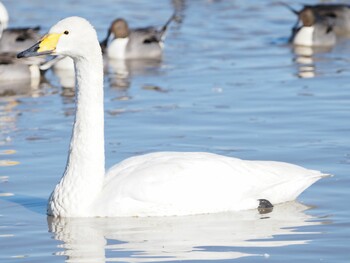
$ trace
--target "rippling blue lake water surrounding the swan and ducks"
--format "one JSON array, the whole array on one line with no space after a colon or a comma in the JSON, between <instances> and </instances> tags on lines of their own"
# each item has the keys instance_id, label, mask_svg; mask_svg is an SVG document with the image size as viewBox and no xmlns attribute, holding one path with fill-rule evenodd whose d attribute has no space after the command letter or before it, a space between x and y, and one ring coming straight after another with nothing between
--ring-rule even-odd
<instances>
[{"instance_id":1,"label":"rippling blue lake water surrounding the swan and ducks","mask_svg":"<svg viewBox=\"0 0 350 263\"><path fill-rule=\"evenodd\" d=\"M265 215L52 220L46 202L66 163L74 97L61 87L69 76L49 71L39 87L0 97L0 262L349 262L349 41L300 55L309 51L287 45L295 17L277 1L3 2L11 26L44 34L79 15L101 40L117 17L161 26L177 10L162 62L109 67L107 167L140 153L210 151L335 176Z\"/></svg>"}]
</instances>

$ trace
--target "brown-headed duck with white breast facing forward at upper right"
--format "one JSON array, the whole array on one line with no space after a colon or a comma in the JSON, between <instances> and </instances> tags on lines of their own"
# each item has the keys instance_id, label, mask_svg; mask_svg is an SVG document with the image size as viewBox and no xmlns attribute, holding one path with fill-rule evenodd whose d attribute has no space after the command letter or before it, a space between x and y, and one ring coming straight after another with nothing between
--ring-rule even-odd
<instances>
[{"instance_id":1,"label":"brown-headed duck with white breast facing forward at upper right","mask_svg":"<svg viewBox=\"0 0 350 263\"><path fill-rule=\"evenodd\" d=\"M318 16L312 9L305 9L299 14L302 25L292 30L291 42L296 46L331 47L337 42L334 31L334 19Z\"/></svg>"}]
</instances>

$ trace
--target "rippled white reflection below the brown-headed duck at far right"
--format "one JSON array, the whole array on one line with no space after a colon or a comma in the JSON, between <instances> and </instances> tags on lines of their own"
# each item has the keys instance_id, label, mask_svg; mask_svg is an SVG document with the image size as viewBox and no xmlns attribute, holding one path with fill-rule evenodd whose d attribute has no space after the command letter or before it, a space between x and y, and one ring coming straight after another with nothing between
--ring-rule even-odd
<instances>
[{"instance_id":1,"label":"rippled white reflection below the brown-headed duck at far right","mask_svg":"<svg viewBox=\"0 0 350 263\"><path fill-rule=\"evenodd\" d=\"M315 55L320 53L327 53L331 51L331 47L307 47L294 46L295 54L294 61L298 66L298 77L300 78L314 78L316 77L316 63Z\"/></svg>"}]
</instances>

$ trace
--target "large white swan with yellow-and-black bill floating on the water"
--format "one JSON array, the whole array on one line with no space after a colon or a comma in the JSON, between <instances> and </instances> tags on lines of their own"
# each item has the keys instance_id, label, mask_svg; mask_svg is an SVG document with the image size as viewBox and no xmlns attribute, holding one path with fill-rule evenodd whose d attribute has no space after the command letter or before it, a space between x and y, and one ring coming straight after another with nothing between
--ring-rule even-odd
<instances>
[{"instance_id":1,"label":"large white swan with yellow-and-black bill floating on the water","mask_svg":"<svg viewBox=\"0 0 350 263\"><path fill-rule=\"evenodd\" d=\"M103 64L93 27L70 17L18 57L65 55L76 65L76 117L64 175L48 203L55 217L170 216L257 208L295 199L325 176L292 164L201 152L136 156L105 174Z\"/></svg>"}]
</instances>

